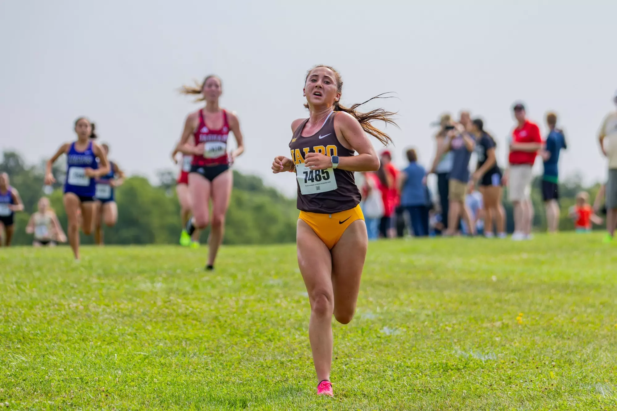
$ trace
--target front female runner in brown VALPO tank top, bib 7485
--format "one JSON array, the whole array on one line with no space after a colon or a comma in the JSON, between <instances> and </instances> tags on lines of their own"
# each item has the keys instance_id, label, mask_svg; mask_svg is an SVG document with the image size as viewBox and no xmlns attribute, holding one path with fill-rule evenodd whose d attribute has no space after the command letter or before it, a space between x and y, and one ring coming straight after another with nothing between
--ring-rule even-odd
<instances>
[{"instance_id":1,"label":"front female runner in brown VALPO tank top, bib 7485","mask_svg":"<svg viewBox=\"0 0 617 411\"><path fill-rule=\"evenodd\" d=\"M375 171L379 157L366 133L391 139L371 125L395 123L383 109L360 113L341 106L341 75L318 65L304 85L309 118L291 123L291 159L278 156L273 173L296 172L298 265L309 294L309 339L317 372L317 394L332 396L332 315L347 324L354 317L368 238L354 172ZM354 156L357 151L358 155Z\"/></svg>"}]
</instances>

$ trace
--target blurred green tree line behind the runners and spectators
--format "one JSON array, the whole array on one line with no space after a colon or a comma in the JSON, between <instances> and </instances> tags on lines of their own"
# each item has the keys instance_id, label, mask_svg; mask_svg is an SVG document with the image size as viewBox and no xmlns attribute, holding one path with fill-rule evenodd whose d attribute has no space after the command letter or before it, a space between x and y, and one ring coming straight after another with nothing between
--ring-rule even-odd
<instances>
[{"instance_id":1,"label":"blurred green tree line behind the runners and spectators","mask_svg":"<svg viewBox=\"0 0 617 411\"><path fill-rule=\"evenodd\" d=\"M64 165L54 165L54 175L62 181ZM44 196L44 162L27 164L14 151L2 153L0 172L7 172L10 183L19 190L25 212L15 215L15 245L31 244L32 237L25 233L30 214L35 212L38 200ZM263 184L259 176L244 175L234 170L234 189L225 222L225 244L271 244L296 241L296 220L298 210L296 200L289 199L275 188ZM118 223L113 228L105 228L108 244L177 244L180 236L180 205L175 194L176 173L162 170L157 173L157 185L152 185L143 176L130 176L117 188ZM546 228L546 218L542 194L541 177L534 180L532 201L536 215L534 226ZM56 183L48 196L56 210L62 226L66 229L67 217L62 206L62 185ZM572 176L560 183L560 230L574 229L568 217L568 209L574 205L574 197L579 191L587 191L591 201L599 186L585 187L581 176ZM508 231L513 229L512 205L504 196L507 212ZM207 238L202 233L202 242ZM82 236L84 244L92 244L90 236Z\"/></svg>"}]
</instances>

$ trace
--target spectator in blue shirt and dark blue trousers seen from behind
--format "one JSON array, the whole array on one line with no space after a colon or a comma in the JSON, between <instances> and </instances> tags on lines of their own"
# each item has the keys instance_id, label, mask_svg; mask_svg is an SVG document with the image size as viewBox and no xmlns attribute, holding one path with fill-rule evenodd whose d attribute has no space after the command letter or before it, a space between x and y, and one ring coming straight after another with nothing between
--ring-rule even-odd
<instances>
[{"instance_id":1,"label":"spectator in blue shirt and dark blue trousers seen from behind","mask_svg":"<svg viewBox=\"0 0 617 411\"><path fill-rule=\"evenodd\" d=\"M398 180L400 204L409 215L413 235L424 237L428 236L426 170L418 164L418 155L414 149L408 149L406 154L409 165L400 172Z\"/></svg>"}]
</instances>

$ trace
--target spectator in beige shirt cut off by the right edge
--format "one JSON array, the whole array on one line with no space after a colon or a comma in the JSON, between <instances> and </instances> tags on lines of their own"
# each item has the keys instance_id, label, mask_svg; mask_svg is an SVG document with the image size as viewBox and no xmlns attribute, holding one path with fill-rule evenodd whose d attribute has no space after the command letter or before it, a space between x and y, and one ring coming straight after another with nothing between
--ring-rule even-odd
<instances>
[{"instance_id":1,"label":"spectator in beige shirt cut off by the right edge","mask_svg":"<svg viewBox=\"0 0 617 411\"><path fill-rule=\"evenodd\" d=\"M613 96L613 102L617 105L617 91ZM610 243L615 238L617 226L617 110L611 111L603 120L598 141L602 154L608 158L608 183L606 185L607 196L607 236L605 243Z\"/></svg>"}]
</instances>

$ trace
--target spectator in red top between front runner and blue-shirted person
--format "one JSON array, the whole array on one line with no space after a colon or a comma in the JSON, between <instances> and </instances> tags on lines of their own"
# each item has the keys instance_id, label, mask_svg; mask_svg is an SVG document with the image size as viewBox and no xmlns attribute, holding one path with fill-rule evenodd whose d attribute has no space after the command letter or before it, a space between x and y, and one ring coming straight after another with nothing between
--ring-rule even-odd
<instances>
[{"instance_id":1,"label":"spectator in red top between front runner and blue-shirted person","mask_svg":"<svg viewBox=\"0 0 617 411\"><path fill-rule=\"evenodd\" d=\"M381 153L381 165L377 175L381 181L381 197L384 202L384 216L381 217L379 231L385 238L394 238L396 235L394 209L399 205L399 192L396 188L399 170L392 164L392 153L388 150Z\"/></svg>"}]
</instances>

